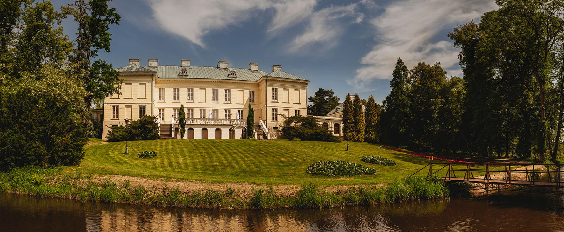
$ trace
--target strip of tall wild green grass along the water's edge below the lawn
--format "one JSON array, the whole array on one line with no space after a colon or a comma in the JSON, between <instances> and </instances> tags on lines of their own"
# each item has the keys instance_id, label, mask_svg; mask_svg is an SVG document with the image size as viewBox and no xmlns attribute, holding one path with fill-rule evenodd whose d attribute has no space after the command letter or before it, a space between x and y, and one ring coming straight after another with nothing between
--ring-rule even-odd
<instances>
[{"instance_id":1,"label":"strip of tall wild green grass along the water's edge below the lawn","mask_svg":"<svg viewBox=\"0 0 564 232\"><path fill-rule=\"evenodd\" d=\"M384 186L349 186L328 192L319 185L301 186L296 195L282 195L268 186L255 188L251 194L240 190L204 189L182 192L174 189L154 189L131 186L129 180L115 183L109 179L94 179L91 174L64 174L62 169L24 167L0 173L0 190L38 197L58 197L78 201L150 204L156 206L204 208L328 208L347 204L369 205L380 202L448 198L450 191L439 179L406 177Z\"/></svg>"}]
</instances>

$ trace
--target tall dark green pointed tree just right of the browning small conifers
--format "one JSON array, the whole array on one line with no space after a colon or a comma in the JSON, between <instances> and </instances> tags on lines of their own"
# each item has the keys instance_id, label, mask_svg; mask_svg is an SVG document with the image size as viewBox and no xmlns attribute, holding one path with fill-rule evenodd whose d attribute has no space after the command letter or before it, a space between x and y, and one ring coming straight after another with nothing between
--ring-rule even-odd
<instances>
[{"instance_id":1,"label":"tall dark green pointed tree just right of the browning small conifers","mask_svg":"<svg viewBox=\"0 0 564 232\"><path fill-rule=\"evenodd\" d=\"M409 70L398 58L395 63L392 79L390 80L390 94L384 99L384 112L382 112L382 124L385 124L385 142L393 145L405 145L409 138L409 121L411 111L409 106Z\"/></svg>"}]
</instances>

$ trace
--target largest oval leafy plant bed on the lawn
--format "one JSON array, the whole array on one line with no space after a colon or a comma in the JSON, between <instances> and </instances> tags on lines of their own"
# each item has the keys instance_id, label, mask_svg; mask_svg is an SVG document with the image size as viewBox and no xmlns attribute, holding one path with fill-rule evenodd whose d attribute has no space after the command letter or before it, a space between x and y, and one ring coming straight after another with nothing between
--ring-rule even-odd
<instances>
[{"instance_id":1,"label":"largest oval leafy plant bed on the lawn","mask_svg":"<svg viewBox=\"0 0 564 232\"><path fill-rule=\"evenodd\" d=\"M319 161L307 166L306 172L324 176L355 176L375 174L376 170L372 167L365 167L358 163L334 160Z\"/></svg>"}]
</instances>

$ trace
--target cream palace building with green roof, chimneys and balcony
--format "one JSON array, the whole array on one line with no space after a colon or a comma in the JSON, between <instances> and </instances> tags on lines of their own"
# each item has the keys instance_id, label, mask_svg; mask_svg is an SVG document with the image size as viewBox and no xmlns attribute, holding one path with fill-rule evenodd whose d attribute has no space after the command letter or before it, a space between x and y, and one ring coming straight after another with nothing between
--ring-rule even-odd
<instances>
[{"instance_id":1,"label":"cream palace building with green roof, chimneys and balcony","mask_svg":"<svg viewBox=\"0 0 564 232\"><path fill-rule=\"evenodd\" d=\"M149 59L140 66L139 59L116 69L123 80L121 93L104 99L102 116L105 139L108 126L125 124L144 115L158 116L161 137L174 137L180 104L186 113L185 139L240 139L244 136L249 104L254 110L258 138L276 138L283 117L307 114L306 87L310 83L272 65L272 71L229 67L219 61L215 67L192 66L190 60L180 65L159 65Z\"/></svg>"}]
</instances>

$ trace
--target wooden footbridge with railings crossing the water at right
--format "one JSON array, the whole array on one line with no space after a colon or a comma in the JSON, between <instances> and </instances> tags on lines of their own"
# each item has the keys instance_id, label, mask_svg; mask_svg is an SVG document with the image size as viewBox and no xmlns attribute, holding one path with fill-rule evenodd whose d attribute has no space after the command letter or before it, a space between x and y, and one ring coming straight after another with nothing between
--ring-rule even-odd
<instances>
[{"instance_id":1,"label":"wooden footbridge with railings crossing the water at right","mask_svg":"<svg viewBox=\"0 0 564 232\"><path fill-rule=\"evenodd\" d=\"M427 177L438 176L444 181L477 184L544 186L562 188L564 186L564 165L547 163L434 163L432 157L425 167Z\"/></svg>"}]
</instances>

